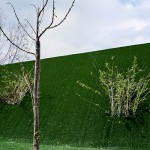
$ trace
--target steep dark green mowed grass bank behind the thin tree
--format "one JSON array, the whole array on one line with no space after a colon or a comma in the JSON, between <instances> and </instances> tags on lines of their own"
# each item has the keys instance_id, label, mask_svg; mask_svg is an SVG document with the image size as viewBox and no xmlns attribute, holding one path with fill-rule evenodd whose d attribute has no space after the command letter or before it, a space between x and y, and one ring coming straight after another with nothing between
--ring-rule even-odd
<instances>
[{"instance_id":1,"label":"steep dark green mowed grass bank behind the thin tree","mask_svg":"<svg viewBox=\"0 0 150 150\"><path fill-rule=\"evenodd\" d=\"M132 65L134 56L138 58L139 66L146 69L145 74L150 71L150 44L42 60L40 140L43 146L47 145L46 150L51 145L112 147L116 150L116 147L150 149L150 99L140 106L136 118L113 119L105 113L105 110L109 110L109 101L104 94L95 95L76 83L79 80L101 90L98 81L90 76L90 72L97 74L98 69L104 69L105 62L110 62L111 56L115 56L114 63L121 71ZM24 65L32 68L33 62ZM8 67L10 70L18 70L20 65ZM86 100L97 103L100 107ZM25 145L31 143L32 118L29 94L20 105L11 106L1 102L0 149L11 145L1 139ZM28 146L26 149L30 149L31 145Z\"/></svg>"}]
</instances>

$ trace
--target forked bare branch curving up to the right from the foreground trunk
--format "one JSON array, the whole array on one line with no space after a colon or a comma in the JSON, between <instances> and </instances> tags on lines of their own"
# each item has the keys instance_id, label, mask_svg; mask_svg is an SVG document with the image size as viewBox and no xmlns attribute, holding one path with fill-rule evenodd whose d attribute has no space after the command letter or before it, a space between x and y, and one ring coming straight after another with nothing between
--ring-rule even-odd
<instances>
[{"instance_id":1,"label":"forked bare branch curving up to the right from the foreground trunk","mask_svg":"<svg viewBox=\"0 0 150 150\"><path fill-rule=\"evenodd\" d=\"M72 2L72 5L70 6L68 12L66 13L65 17L56 25L52 26L53 24L53 21L54 21L54 16L55 16L55 6L54 6L54 0L53 0L53 16L52 16L52 22L50 23L50 25L48 25L42 32L41 34L39 35L39 37L41 37L48 29L52 29L52 28L55 28L59 25L61 25L65 20L66 18L68 17L70 11L72 10L73 6L74 6L74 3L75 3L75 0L73 0Z\"/></svg>"}]
</instances>

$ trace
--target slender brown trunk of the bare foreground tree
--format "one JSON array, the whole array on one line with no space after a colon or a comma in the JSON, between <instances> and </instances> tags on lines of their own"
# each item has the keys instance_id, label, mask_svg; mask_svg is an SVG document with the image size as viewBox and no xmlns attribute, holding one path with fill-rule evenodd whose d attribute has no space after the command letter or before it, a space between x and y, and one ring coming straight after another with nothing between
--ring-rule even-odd
<instances>
[{"instance_id":1,"label":"slender brown trunk of the bare foreground tree","mask_svg":"<svg viewBox=\"0 0 150 150\"><path fill-rule=\"evenodd\" d=\"M34 91L33 91L33 114L34 133L33 149L39 150L39 86L40 86L40 41L36 41L36 60L34 70Z\"/></svg>"}]
</instances>

